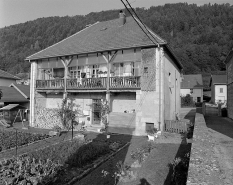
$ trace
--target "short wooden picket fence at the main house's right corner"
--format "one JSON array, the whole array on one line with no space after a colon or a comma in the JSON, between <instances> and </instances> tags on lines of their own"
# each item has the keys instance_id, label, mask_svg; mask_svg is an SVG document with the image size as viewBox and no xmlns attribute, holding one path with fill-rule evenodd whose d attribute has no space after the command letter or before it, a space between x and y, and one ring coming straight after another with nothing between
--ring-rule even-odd
<instances>
[{"instance_id":1,"label":"short wooden picket fence at the main house's right corner","mask_svg":"<svg viewBox=\"0 0 233 185\"><path fill-rule=\"evenodd\" d=\"M189 120L165 120L164 131L174 133L187 132Z\"/></svg>"}]
</instances>

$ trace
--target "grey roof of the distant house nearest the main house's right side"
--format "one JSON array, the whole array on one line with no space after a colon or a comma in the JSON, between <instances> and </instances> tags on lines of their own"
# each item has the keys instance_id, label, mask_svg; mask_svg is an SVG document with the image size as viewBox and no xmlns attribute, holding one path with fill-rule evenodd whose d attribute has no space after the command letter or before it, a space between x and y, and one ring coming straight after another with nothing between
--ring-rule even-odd
<instances>
[{"instance_id":1,"label":"grey roof of the distant house nearest the main house's right side","mask_svg":"<svg viewBox=\"0 0 233 185\"><path fill-rule=\"evenodd\" d=\"M201 74L184 75L181 82L181 89L202 89L203 80Z\"/></svg>"}]
</instances>

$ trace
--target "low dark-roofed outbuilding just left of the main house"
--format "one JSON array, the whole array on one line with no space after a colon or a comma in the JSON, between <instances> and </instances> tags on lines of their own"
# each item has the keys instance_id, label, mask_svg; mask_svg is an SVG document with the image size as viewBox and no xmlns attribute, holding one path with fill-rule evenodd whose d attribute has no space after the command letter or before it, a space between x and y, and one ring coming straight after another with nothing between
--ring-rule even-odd
<instances>
[{"instance_id":1,"label":"low dark-roofed outbuilding just left of the main house","mask_svg":"<svg viewBox=\"0 0 233 185\"><path fill-rule=\"evenodd\" d=\"M2 106L8 104L19 104L20 106L29 109L30 105L30 86L11 84L9 87L0 86L2 90L2 98L0 102Z\"/></svg>"}]
</instances>

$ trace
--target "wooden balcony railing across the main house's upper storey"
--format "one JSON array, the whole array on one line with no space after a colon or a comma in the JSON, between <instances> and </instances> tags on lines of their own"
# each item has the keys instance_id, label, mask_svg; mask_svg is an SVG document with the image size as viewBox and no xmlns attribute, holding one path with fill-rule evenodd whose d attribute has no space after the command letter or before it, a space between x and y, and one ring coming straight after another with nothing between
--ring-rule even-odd
<instances>
[{"instance_id":1,"label":"wooden balcony railing across the main house's upper storey","mask_svg":"<svg viewBox=\"0 0 233 185\"><path fill-rule=\"evenodd\" d=\"M72 89L106 89L107 78L83 78L79 79L67 79L66 87L68 90ZM64 79L55 80L37 80L37 89L64 89ZM139 89L140 77L139 76L125 76L125 77L110 77L109 78L110 89Z\"/></svg>"}]
</instances>

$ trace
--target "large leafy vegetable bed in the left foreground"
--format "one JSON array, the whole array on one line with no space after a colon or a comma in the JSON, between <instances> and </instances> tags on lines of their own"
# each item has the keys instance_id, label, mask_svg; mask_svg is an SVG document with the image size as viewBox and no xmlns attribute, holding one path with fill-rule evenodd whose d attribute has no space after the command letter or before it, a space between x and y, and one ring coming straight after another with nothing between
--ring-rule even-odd
<instances>
[{"instance_id":1,"label":"large leafy vegetable bed in the left foreground","mask_svg":"<svg viewBox=\"0 0 233 185\"><path fill-rule=\"evenodd\" d=\"M2 160L0 182L8 185L67 184L85 175L125 144L106 139L60 142L18 158Z\"/></svg>"}]
</instances>

